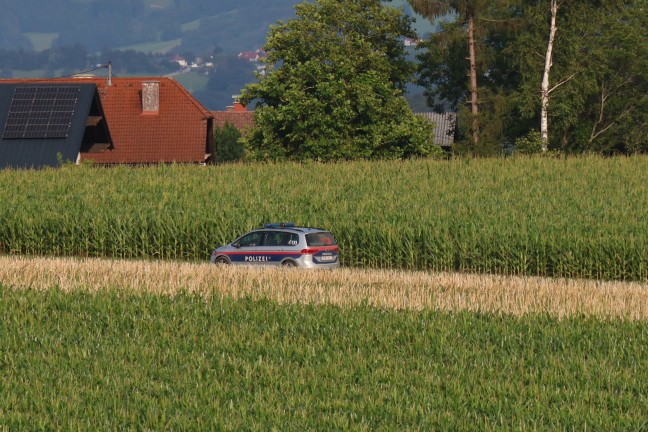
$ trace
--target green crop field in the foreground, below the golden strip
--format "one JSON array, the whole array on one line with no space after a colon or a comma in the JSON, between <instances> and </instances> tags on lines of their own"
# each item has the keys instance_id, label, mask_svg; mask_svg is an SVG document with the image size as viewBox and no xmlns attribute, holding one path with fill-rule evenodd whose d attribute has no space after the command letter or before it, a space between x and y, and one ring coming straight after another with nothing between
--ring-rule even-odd
<instances>
[{"instance_id":1,"label":"green crop field in the foreground, below the golden strip","mask_svg":"<svg viewBox=\"0 0 648 432\"><path fill-rule=\"evenodd\" d=\"M0 429L643 430L645 321L0 286Z\"/></svg>"}]
</instances>

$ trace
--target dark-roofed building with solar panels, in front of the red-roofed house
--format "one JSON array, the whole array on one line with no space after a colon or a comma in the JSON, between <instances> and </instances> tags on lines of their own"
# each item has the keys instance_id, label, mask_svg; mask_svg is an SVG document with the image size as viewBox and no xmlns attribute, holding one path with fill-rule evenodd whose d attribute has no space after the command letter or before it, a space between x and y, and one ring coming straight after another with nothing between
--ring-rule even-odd
<instances>
[{"instance_id":1,"label":"dark-roofed building with solar panels, in front of the red-roofed house","mask_svg":"<svg viewBox=\"0 0 648 432\"><path fill-rule=\"evenodd\" d=\"M41 168L113 149L96 84L0 80L0 168Z\"/></svg>"}]
</instances>

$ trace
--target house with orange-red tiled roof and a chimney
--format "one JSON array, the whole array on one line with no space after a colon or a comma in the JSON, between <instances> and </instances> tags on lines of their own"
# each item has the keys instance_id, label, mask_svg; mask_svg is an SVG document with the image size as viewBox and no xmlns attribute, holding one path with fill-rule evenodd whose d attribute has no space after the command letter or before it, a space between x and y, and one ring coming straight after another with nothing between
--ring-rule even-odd
<instances>
[{"instance_id":1,"label":"house with orange-red tiled roof and a chimney","mask_svg":"<svg viewBox=\"0 0 648 432\"><path fill-rule=\"evenodd\" d=\"M96 88L97 103L105 114L112 145L103 152L81 152L81 161L98 164L207 163L213 155L214 116L171 78L0 80L0 85L4 83L88 84Z\"/></svg>"}]
</instances>

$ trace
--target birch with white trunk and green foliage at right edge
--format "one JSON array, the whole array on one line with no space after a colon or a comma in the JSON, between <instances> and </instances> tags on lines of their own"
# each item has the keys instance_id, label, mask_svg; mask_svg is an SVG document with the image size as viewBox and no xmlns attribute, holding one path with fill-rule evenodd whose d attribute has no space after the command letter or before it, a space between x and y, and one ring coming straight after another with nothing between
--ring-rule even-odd
<instances>
[{"instance_id":1,"label":"birch with white trunk and green foliage at right edge","mask_svg":"<svg viewBox=\"0 0 648 432\"><path fill-rule=\"evenodd\" d=\"M648 151L645 0L526 1L523 13L510 53L521 112L540 115L544 149Z\"/></svg>"}]
</instances>

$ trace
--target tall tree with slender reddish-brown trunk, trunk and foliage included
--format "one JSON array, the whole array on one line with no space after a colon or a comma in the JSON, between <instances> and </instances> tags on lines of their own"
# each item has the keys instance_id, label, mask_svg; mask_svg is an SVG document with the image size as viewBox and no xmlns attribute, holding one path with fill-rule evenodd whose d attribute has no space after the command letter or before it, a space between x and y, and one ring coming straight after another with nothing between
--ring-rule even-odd
<instances>
[{"instance_id":1,"label":"tall tree with slender reddish-brown trunk, trunk and foliage included","mask_svg":"<svg viewBox=\"0 0 648 432\"><path fill-rule=\"evenodd\" d=\"M428 104L435 111L456 110L460 120L468 120L472 141L467 147L471 153L501 152L502 139L498 136L504 133L503 122L511 109L506 89L517 81L507 70L507 62L498 57L516 24L515 19L503 13L510 2L408 0L408 3L431 22L448 14L453 17L451 22L442 23L440 32L419 46L419 84L426 88ZM466 100L470 102L470 112L463 108Z\"/></svg>"}]
</instances>

